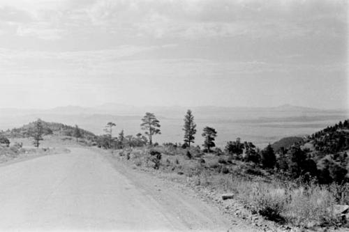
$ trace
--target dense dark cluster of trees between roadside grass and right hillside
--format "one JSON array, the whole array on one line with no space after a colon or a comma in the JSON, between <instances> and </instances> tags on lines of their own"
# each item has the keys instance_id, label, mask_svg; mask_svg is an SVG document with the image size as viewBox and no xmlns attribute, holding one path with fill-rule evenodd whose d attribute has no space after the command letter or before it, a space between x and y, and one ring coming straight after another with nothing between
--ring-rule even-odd
<instances>
[{"instance_id":1,"label":"dense dark cluster of trees between roadside grass and right hillside","mask_svg":"<svg viewBox=\"0 0 349 232\"><path fill-rule=\"evenodd\" d=\"M228 142L225 153L236 160L254 162L263 169L274 169L290 178L304 178L304 180L317 178L320 184L348 182L346 167L349 159L345 152L327 155L320 160L320 165L317 165L311 155L306 153L306 149L302 149L298 144L288 149L281 148L275 153L270 144L259 150L251 142L245 141L243 144L238 138L237 141Z\"/></svg>"}]
</instances>

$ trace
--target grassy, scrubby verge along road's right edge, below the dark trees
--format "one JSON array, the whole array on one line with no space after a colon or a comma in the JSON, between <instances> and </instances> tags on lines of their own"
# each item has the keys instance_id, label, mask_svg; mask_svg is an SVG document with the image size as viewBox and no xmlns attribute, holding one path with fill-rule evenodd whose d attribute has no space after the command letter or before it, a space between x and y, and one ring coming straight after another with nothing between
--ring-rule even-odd
<instances>
[{"instance_id":1,"label":"grassy, scrubby verge along road's right edge, below the dark trees","mask_svg":"<svg viewBox=\"0 0 349 232\"><path fill-rule=\"evenodd\" d=\"M161 154L161 160L154 160L154 154L151 155L154 151ZM195 148L135 148L117 150L114 155L142 169L154 170L158 166L162 176L206 192L232 193L234 201L241 203L252 215L260 215L285 227L349 226L335 212L336 205L349 202L348 186L343 190L338 185L279 180L274 173L254 164L231 160L225 155L205 154Z\"/></svg>"}]
</instances>

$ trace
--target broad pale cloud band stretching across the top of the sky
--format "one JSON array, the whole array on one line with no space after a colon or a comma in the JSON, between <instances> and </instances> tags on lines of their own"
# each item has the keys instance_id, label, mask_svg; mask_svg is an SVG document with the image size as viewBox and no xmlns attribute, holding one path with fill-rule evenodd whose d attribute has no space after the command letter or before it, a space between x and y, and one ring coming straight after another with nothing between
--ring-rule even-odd
<instances>
[{"instance_id":1,"label":"broad pale cloud band stretching across the top of the sky","mask_svg":"<svg viewBox=\"0 0 349 232\"><path fill-rule=\"evenodd\" d=\"M0 21L19 23L19 36L44 40L93 32L126 40L328 37L341 36L348 20L345 0L4 0L1 4L6 13L0 14Z\"/></svg>"}]
</instances>

